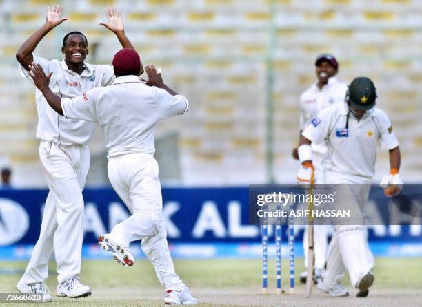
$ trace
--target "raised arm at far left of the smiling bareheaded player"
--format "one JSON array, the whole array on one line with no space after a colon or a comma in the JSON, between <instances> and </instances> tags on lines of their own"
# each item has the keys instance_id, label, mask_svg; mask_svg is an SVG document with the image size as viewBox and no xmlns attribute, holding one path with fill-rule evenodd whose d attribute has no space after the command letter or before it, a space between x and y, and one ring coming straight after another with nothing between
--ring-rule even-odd
<instances>
[{"instance_id":1,"label":"raised arm at far left of the smiling bareheaded player","mask_svg":"<svg viewBox=\"0 0 422 307\"><path fill-rule=\"evenodd\" d=\"M46 16L46 23L37 30L34 34L32 34L26 41L23 42L21 47L16 52L16 59L21 63L22 67L26 70L30 70L30 64L34 61L34 56L32 52L34 52L35 48L43 39L44 36L52 29L57 27L60 23L67 20L66 17L60 17L63 8L59 5L53 6L50 9L50 6L47 7L47 16Z\"/></svg>"}]
</instances>

